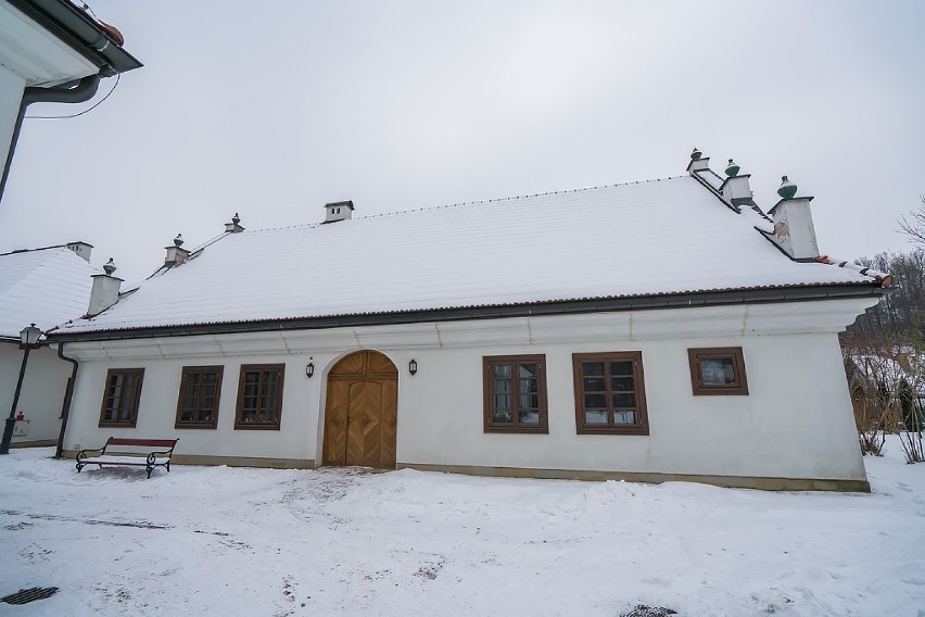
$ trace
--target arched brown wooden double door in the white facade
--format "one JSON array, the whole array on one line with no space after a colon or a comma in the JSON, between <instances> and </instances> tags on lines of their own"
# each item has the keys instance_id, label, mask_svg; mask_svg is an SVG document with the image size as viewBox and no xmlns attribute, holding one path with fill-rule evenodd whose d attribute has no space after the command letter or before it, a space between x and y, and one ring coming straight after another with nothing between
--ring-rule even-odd
<instances>
[{"instance_id":1,"label":"arched brown wooden double door in the white facade","mask_svg":"<svg viewBox=\"0 0 925 617\"><path fill-rule=\"evenodd\" d=\"M395 468L398 369L376 351L358 351L328 374L325 465Z\"/></svg>"}]
</instances>

